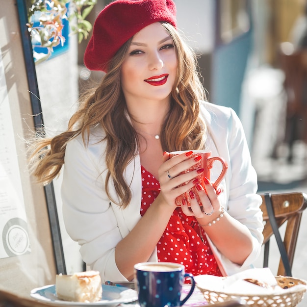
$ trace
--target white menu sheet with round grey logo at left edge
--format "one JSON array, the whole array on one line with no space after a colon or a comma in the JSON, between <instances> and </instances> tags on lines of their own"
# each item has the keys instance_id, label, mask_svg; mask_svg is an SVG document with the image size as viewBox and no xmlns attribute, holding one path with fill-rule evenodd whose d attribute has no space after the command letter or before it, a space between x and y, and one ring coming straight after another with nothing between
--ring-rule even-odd
<instances>
[{"instance_id":1,"label":"white menu sheet with round grey logo at left edge","mask_svg":"<svg viewBox=\"0 0 307 307\"><path fill-rule=\"evenodd\" d=\"M30 253L11 115L0 49L0 258Z\"/></svg>"}]
</instances>

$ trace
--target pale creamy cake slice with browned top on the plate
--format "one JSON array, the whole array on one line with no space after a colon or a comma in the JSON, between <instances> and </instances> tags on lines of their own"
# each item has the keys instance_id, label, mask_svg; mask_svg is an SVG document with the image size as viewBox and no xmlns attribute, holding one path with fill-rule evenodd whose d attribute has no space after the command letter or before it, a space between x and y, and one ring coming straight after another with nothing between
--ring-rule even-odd
<instances>
[{"instance_id":1,"label":"pale creamy cake slice with browned top on the plate","mask_svg":"<svg viewBox=\"0 0 307 307\"><path fill-rule=\"evenodd\" d=\"M55 291L60 300L94 303L102 299L102 282L98 271L74 275L56 275Z\"/></svg>"}]
</instances>

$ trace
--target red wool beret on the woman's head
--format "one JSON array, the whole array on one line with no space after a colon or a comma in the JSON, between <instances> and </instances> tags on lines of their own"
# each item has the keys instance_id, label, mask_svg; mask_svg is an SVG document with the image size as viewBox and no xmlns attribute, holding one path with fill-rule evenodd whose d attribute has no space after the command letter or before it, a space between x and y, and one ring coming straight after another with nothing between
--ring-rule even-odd
<instances>
[{"instance_id":1,"label":"red wool beret on the woman's head","mask_svg":"<svg viewBox=\"0 0 307 307\"><path fill-rule=\"evenodd\" d=\"M115 0L98 15L84 53L90 70L107 71L108 61L135 33L155 22L176 25L172 0Z\"/></svg>"}]
</instances>

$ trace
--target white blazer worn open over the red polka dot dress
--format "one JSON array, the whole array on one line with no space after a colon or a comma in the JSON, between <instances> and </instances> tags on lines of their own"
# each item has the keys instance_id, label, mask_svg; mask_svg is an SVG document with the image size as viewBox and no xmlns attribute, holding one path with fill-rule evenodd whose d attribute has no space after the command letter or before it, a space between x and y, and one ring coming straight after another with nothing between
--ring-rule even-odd
<instances>
[{"instance_id":1,"label":"white blazer worn open over the red polka dot dress","mask_svg":"<svg viewBox=\"0 0 307 307\"><path fill-rule=\"evenodd\" d=\"M221 156L228 163L228 171L220 184L222 205L228 213L244 224L252 233L254 248L242 266L221 255L209 239L211 249L223 275L232 275L251 267L259 256L263 241L261 197L256 194L257 178L241 122L231 108L202 103L201 114L207 124L206 147L212 156ZM80 245L84 262L101 273L102 282L127 281L115 263L115 247L141 218L141 164L137 155L125 171L131 185L132 199L126 209L112 203L106 196L104 181L106 142L100 126L91 130L89 144L79 135L66 147L63 183L61 188L63 217L66 230ZM216 161L211 170L215 180L221 166ZM119 201L112 180L109 193ZM156 249L148 261L157 261Z\"/></svg>"}]
</instances>

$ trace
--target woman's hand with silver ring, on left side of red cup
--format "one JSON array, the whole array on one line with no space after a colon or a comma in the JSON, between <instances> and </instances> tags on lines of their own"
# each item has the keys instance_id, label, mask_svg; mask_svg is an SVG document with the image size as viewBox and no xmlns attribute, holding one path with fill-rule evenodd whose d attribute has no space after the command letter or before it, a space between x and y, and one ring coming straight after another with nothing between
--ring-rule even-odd
<instances>
[{"instance_id":1,"label":"woman's hand with silver ring, on left side of red cup","mask_svg":"<svg viewBox=\"0 0 307 307\"><path fill-rule=\"evenodd\" d=\"M192 151L180 153L172 158L167 152L163 154L164 162L158 170L161 189L159 196L170 206L176 206L176 198L191 189L199 181L197 177L204 171L204 169L196 169L181 174L191 166L199 163L202 158L200 155L191 157L192 153ZM185 182L187 184L180 186Z\"/></svg>"}]
</instances>

